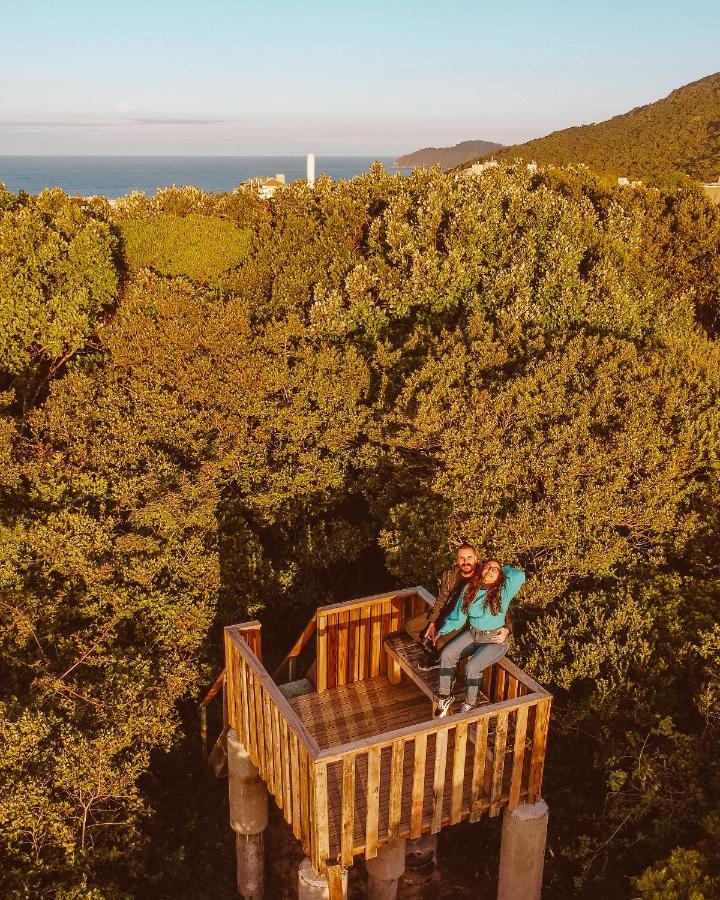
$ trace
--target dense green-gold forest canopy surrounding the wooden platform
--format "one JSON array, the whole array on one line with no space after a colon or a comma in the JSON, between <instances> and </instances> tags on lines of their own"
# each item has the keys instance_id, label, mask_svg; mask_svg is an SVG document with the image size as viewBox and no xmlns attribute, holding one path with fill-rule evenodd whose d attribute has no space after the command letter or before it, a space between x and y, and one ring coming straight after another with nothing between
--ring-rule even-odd
<instances>
[{"instance_id":1,"label":"dense green-gold forest canopy surrounding the wooden platform","mask_svg":"<svg viewBox=\"0 0 720 900\"><path fill-rule=\"evenodd\" d=\"M218 629L281 656L462 533L528 574L547 895L713 896L719 244L692 186L586 169L0 191L4 893L199 896L152 823Z\"/></svg>"}]
</instances>

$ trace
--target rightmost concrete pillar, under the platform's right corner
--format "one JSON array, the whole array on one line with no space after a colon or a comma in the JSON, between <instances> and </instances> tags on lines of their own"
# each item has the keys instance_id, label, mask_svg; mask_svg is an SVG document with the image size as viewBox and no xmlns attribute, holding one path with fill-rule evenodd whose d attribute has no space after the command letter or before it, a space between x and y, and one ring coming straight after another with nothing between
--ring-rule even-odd
<instances>
[{"instance_id":1,"label":"rightmost concrete pillar, under the platform's right corner","mask_svg":"<svg viewBox=\"0 0 720 900\"><path fill-rule=\"evenodd\" d=\"M523 803L503 815L498 900L539 900L545 865L548 808Z\"/></svg>"}]
</instances>

